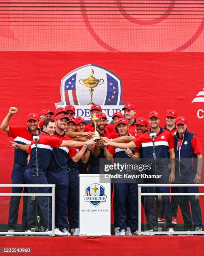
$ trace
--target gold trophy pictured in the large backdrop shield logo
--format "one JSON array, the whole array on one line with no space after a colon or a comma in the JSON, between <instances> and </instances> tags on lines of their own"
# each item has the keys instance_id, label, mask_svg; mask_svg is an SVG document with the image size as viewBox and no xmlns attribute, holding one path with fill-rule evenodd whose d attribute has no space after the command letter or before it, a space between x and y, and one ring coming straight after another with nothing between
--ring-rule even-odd
<instances>
[{"instance_id":1,"label":"gold trophy pictured in the large backdrop shield logo","mask_svg":"<svg viewBox=\"0 0 204 256\"><path fill-rule=\"evenodd\" d=\"M90 76L88 78L86 78L86 79L80 78L79 82L80 82L80 84L90 88L89 91L90 91L90 95L91 95L91 101L89 102L88 105L90 105L90 106L95 105L95 103L92 101L92 96L93 96L93 91L94 91L93 88L101 85L104 82L104 80L102 78L101 79L95 78L94 77L94 71L93 71L93 69L91 69ZM100 82L102 82L102 83L100 83Z\"/></svg>"}]
</instances>

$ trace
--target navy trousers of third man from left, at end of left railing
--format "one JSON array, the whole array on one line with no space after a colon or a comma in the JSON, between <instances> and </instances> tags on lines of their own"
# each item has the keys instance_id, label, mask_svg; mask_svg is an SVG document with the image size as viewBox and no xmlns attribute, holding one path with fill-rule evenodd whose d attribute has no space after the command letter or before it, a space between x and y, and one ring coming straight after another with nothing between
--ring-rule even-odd
<instances>
[{"instance_id":1,"label":"navy trousers of third man from left, at end of left railing","mask_svg":"<svg viewBox=\"0 0 204 256\"><path fill-rule=\"evenodd\" d=\"M67 199L69 191L69 175L67 169L59 172L46 172L49 184L55 184L55 227L68 228Z\"/></svg>"}]
</instances>

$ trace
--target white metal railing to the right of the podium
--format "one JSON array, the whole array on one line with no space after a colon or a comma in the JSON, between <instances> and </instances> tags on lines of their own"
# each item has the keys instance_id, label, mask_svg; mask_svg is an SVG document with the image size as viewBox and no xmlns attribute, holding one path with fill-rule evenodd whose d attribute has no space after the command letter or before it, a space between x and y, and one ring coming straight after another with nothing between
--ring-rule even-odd
<instances>
[{"instance_id":1,"label":"white metal railing to the right of the podium","mask_svg":"<svg viewBox=\"0 0 204 256\"><path fill-rule=\"evenodd\" d=\"M141 235L203 235L204 231L142 231L142 220L141 220L141 196L199 196L204 195L204 193L142 193L141 187L204 187L204 184L138 184L138 233ZM157 221L157 220L156 220Z\"/></svg>"}]
</instances>

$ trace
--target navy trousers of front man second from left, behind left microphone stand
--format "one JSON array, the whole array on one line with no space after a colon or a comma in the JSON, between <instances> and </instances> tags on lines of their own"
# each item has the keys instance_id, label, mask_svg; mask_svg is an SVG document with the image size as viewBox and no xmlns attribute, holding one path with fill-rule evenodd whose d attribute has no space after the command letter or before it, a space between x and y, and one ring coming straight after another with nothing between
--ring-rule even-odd
<instances>
[{"instance_id":1,"label":"navy trousers of front man second from left, behind left microphone stand","mask_svg":"<svg viewBox=\"0 0 204 256\"><path fill-rule=\"evenodd\" d=\"M27 167L25 170L25 181L27 184L48 184L45 172L42 170L38 171L38 177L36 179L36 172L34 168ZM29 193L49 193L49 187L28 187ZM37 204L42 212L45 228L48 230L52 229L52 215L51 215L51 204L50 197L35 197ZM28 198L27 203L27 222L29 229L35 227L35 200Z\"/></svg>"}]
</instances>

